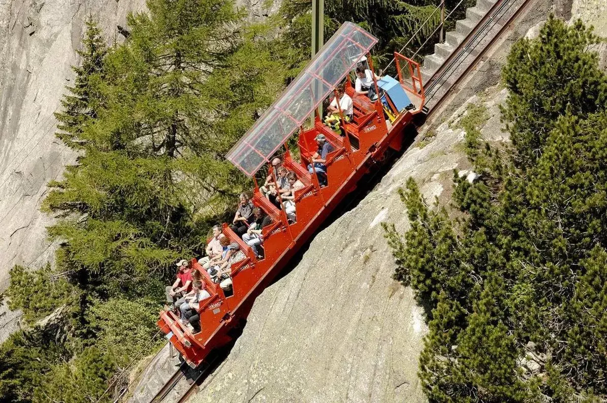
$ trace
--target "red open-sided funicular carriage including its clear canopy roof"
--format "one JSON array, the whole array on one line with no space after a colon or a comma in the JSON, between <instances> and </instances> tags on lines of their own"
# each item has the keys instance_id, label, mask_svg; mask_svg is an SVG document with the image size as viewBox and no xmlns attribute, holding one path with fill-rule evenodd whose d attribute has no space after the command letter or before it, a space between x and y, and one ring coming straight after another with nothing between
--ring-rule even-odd
<instances>
[{"instance_id":1,"label":"red open-sided funicular carriage including its clear canopy roof","mask_svg":"<svg viewBox=\"0 0 607 403\"><path fill-rule=\"evenodd\" d=\"M171 311L163 311L158 320L161 330L191 367L200 365L211 351L231 340L229 330L246 318L256 296L270 284L339 202L356 188L362 175L374 169L375 162L381 160L388 148L401 149L403 129L413 115L421 112L424 92L419 65L398 53L395 53L395 58L399 90L406 93L413 105L409 109L396 110L388 98L388 105L396 117L392 124L386 123L381 100L370 101L365 95L355 95L349 79L346 92L353 100L354 116L350 123L342 120L344 135L334 133L316 113L325 98L334 92L348 73L356 69L359 60L366 56L373 70L368 52L377 41L358 25L351 22L343 24L226 156L242 172L254 177L288 138L299 131L300 161L294 159L285 146L283 166L296 173L304 188L294 194L296 221L289 222L283 210L260 194L256 181L253 204L273 218L273 223L263 228L263 259L257 259L253 250L223 224L223 234L231 242L238 243L240 251L244 252L243 259L231 266L231 294L226 295L219 284L212 282L205 269L195 259L192 260L194 269L202 274L206 290L211 295L198 310L202 331L192 334ZM376 85L375 77L373 81ZM313 113L313 127L303 130ZM310 173L307 169L317 149L314 140L317 134L324 134L334 147L325 163L326 186L320 186L317 173Z\"/></svg>"}]
</instances>

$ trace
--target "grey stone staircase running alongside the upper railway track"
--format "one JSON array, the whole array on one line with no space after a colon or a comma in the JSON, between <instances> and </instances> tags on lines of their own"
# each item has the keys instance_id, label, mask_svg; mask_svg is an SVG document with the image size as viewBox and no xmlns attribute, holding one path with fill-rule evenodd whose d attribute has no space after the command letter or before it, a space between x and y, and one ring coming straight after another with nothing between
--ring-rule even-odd
<instances>
[{"instance_id":1,"label":"grey stone staircase running alongside the upper railway track","mask_svg":"<svg viewBox=\"0 0 607 403\"><path fill-rule=\"evenodd\" d=\"M476 0L476 5L466 10L466 19L460 19L455 22L455 31L447 32L445 34L445 41L435 44L434 53L424 58L424 63L421 67L423 83L426 83L436 70L441 67L453 50L474 29L476 23L483 18L495 2L497 0Z\"/></svg>"}]
</instances>

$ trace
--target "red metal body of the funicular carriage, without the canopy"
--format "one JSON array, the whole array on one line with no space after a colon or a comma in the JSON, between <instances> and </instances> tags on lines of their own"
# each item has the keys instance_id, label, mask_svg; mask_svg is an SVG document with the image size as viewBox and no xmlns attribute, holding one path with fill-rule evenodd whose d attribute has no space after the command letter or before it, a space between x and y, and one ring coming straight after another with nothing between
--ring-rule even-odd
<instances>
[{"instance_id":1,"label":"red metal body of the funicular carriage, without the canopy","mask_svg":"<svg viewBox=\"0 0 607 403\"><path fill-rule=\"evenodd\" d=\"M398 63L398 56L401 55L396 55ZM417 63L401 57L410 64L412 71L419 69ZM370 57L368 59L370 60ZM372 70L372 64L370 67ZM402 86L409 88L409 83L404 83L401 77L399 79ZM413 80L414 89L415 81ZM413 94L418 94L423 104L421 77L419 86L421 92L415 91ZM224 224L223 234L229 237L231 242L237 242L246 255L245 259L232 265L232 296L226 297L219 284L212 283L206 271L192 260L194 269L202 273L206 289L211 294L211 298L206 300L199 310L202 331L192 334L187 327L181 325L174 313L161 312L158 326L164 333L171 334L169 340L192 367L200 365L210 351L229 342L229 330L235 327L240 319L246 318L255 298L270 284L297 249L314 234L331 211L349 192L356 189L358 180L375 166L373 161L381 161L388 148L397 151L401 149L404 127L410 123L415 113L421 112L421 107L415 112L405 110L393 123L392 129L388 130L381 101L371 102L365 95L354 94L351 84L347 86L346 91L353 98L354 121L344 124L345 137L334 134L320 121L320 117L316 116L314 127L299 134L297 144L301 161L293 160L288 150L284 155L283 166L296 172L299 180L305 185L295 195L297 221L289 224L285 213L260 194L256 183L253 203L273 218L273 223L263 228L265 258L258 260L253 250ZM334 151L327 156L328 185L323 188L320 188L315 172L310 174L307 170L311 155L317 148L314 138L320 133L334 146ZM349 136L358 140L358 150L350 147Z\"/></svg>"}]
</instances>

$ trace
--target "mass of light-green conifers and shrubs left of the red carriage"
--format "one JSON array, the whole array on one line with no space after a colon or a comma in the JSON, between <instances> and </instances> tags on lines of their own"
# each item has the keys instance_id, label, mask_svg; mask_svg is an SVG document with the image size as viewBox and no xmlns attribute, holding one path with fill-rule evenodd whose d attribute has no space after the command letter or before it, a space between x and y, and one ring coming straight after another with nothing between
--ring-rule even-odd
<instances>
[{"instance_id":1,"label":"mass of light-green conifers and shrubs left of the red carriage","mask_svg":"<svg viewBox=\"0 0 607 403\"><path fill-rule=\"evenodd\" d=\"M107 48L87 23L57 114L59 138L79 157L43 205L60 218L49 228L61 242L56 268L16 267L6 293L28 322L56 312L61 324L52 339L35 326L2 345L14 359L0 365L0 388L22 391L9 401L97 401L118 368L154 348L173 263L200 250L250 185L226 152L293 75L294 52L274 27L244 24L230 0L147 4L128 16L123 44ZM32 376L27 361L43 348L61 356Z\"/></svg>"}]
</instances>

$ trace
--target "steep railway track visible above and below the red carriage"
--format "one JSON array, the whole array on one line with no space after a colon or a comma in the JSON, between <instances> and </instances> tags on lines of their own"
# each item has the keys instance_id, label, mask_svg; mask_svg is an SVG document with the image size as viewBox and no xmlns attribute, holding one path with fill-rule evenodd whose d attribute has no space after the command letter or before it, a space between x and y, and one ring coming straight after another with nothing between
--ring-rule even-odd
<instances>
[{"instance_id":1,"label":"steep railway track visible above and below the red carriage","mask_svg":"<svg viewBox=\"0 0 607 403\"><path fill-rule=\"evenodd\" d=\"M493 44L503 38L512 22L533 2L534 0L501 0L490 8L464 41L453 50L443 65L428 80L426 96L427 99L432 100L432 107L427 111L427 116L449 100L449 96L458 84L475 69ZM496 28L498 24L501 25L499 29ZM483 41L489 35L492 35L490 39ZM192 380L191 384L187 381L185 372L190 368L181 365L149 403L184 403L188 401L188 398L198 390L198 384L214 369L215 361L216 359L213 359L205 368L197 371L193 378L189 378Z\"/></svg>"}]
</instances>

